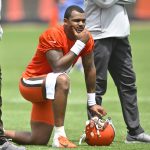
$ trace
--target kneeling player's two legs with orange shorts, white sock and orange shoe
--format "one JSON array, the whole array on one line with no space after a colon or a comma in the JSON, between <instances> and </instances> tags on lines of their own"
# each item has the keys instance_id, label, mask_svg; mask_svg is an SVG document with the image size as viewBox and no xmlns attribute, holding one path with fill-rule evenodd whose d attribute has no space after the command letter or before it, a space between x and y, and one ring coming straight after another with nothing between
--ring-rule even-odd
<instances>
[{"instance_id":1,"label":"kneeling player's two legs with orange shorts, white sock and orange shoe","mask_svg":"<svg viewBox=\"0 0 150 150\"><path fill-rule=\"evenodd\" d=\"M20 144L46 145L51 136L53 125L55 124L53 146L67 146L68 148L75 147L73 143L67 140L65 137L65 131L62 128L64 126L65 110L69 91L69 78L66 74L61 74L57 77L54 100L46 99L45 97L46 79L47 78L45 78L45 76L28 79L34 82L26 82L26 80L21 79L20 92L23 97L33 103L31 132L6 131L5 134L6 136L12 138L13 141ZM41 80L43 80L43 82L40 85L39 81ZM51 84L51 80L52 78L50 78L50 82L47 83ZM64 139L65 143L63 143ZM62 143L59 143L59 140ZM65 145L63 146L63 144Z\"/></svg>"}]
</instances>

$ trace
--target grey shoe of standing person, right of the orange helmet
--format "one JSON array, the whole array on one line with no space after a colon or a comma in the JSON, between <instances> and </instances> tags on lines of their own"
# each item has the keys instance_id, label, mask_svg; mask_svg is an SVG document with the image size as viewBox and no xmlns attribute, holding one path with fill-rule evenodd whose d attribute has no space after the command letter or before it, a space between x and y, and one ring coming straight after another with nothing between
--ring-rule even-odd
<instances>
[{"instance_id":1,"label":"grey shoe of standing person, right of the orange helmet","mask_svg":"<svg viewBox=\"0 0 150 150\"><path fill-rule=\"evenodd\" d=\"M150 143L150 135L144 132L134 136L128 134L125 141L125 143L139 143L139 142Z\"/></svg>"}]
</instances>

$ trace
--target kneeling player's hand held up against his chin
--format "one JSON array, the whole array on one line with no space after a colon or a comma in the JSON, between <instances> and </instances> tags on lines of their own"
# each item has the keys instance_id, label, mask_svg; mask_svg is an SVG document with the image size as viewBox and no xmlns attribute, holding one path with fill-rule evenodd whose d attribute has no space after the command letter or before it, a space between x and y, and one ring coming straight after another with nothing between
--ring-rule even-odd
<instances>
[{"instance_id":1,"label":"kneeling player's hand held up against his chin","mask_svg":"<svg viewBox=\"0 0 150 150\"><path fill-rule=\"evenodd\" d=\"M85 44L88 42L90 36L86 29L84 29L82 32L77 32L76 29L73 28L73 32L77 40L80 40Z\"/></svg>"}]
</instances>

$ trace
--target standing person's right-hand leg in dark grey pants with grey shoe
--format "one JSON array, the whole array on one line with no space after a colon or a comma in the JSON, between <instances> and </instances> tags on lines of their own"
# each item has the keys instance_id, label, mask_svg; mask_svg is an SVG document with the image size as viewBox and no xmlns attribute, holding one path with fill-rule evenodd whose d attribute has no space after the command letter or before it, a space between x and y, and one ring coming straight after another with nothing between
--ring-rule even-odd
<instances>
[{"instance_id":1,"label":"standing person's right-hand leg in dark grey pants with grey shoe","mask_svg":"<svg viewBox=\"0 0 150 150\"><path fill-rule=\"evenodd\" d=\"M127 142L150 142L150 135L140 126L136 77L128 38L114 39L109 71L117 86L122 112L128 129Z\"/></svg>"}]
</instances>

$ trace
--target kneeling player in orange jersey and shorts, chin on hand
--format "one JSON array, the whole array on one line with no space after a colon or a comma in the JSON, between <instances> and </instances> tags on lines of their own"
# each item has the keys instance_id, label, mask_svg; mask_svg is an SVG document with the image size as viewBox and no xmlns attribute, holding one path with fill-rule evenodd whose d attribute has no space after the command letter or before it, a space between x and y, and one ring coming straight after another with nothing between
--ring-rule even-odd
<instances>
[{"instance_id":1,"label":"kneeling player in orange jersey and shorts, chin on hand","mask_svg":"<svg viewBox=\"0 0 150 150\"><path fill-rule=\"evenodd\" d=\"M54 127L53 147L76 147L66 137L64 118L70 82L67 72L80 56L88 106L93 113L106 115L104 108L95 102L93 46L93 38L85 29L83 9L68 7L64 24L48 28L39 37L36 53L20 80L22 96L32 102L31 132L7 130L7 137L19 144L46 145Z\"/></svg>"}]
</instances>

